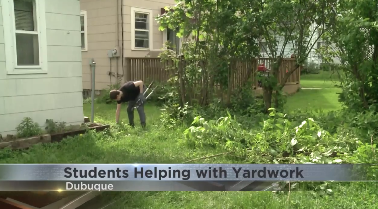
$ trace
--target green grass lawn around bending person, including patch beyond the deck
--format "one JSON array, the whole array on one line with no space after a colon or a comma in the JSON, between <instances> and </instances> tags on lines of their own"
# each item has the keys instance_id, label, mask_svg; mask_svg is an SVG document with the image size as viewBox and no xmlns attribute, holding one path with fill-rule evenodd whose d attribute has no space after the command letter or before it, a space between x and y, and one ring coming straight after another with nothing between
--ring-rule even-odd
<instances>
[{"instance_id":1,"label":"green grass lawn around bending person, including patch beyond the deck","mask_svg":"<svg viewBox=\"0 0 378 209\"><path fill-rule=\"evenodd\" d=\"M287 108L339 108L337 89L301 90L288 99ZM336 98L336 99L335 99ZM160 126L160 110L145 107L147 129L116 125L116 105L95 104L95 121L111 125L108 132L87 133L61 143L37 145L24 152L0 152L0 163L182 163L217 149L191 149L183 145L184 127L168 130ZM124 107L125 110L126 107ZM126 111L121 113L127 124ZM90 116L90 104L84 105ZM242 163L232 156L217 156L192 163ZM376 183L341 183L334 195L319 197L307 191L273 192L105 192L104 201L115 201L111 209L375 209Z\"/></svg>"}]
</instances>

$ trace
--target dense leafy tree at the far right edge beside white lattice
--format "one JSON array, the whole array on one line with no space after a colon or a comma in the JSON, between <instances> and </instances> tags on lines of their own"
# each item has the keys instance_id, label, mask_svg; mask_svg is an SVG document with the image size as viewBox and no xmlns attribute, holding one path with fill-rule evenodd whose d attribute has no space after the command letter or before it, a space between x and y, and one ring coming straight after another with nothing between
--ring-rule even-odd
<instances>
[{"instance_id":1,"label":"dense leafy tree at the far right edge beside white lattice","mask_svg":"<svg viewBox=\"0 0 378 209\"><path fill-rule=\"evenodd\" d=\"M378 4L373 0L344 0L320 53L342 69L340 101L346 107L367 109L378 101Z\"/></svg>"}]
</instances>

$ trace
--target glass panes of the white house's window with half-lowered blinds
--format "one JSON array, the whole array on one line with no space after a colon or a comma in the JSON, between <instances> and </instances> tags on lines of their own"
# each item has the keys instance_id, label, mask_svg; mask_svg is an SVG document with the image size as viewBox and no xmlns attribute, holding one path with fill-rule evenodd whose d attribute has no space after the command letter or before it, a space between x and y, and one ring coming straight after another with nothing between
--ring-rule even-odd
<instances>
[{"instance_id":1,"label":"glass panes of the white house's window with half-lowered blinds","mask_svg":"<svg viewBox=\"0 0 378 209\"><path fill-rule=\"evenodd\" d=\"M13 0L17 65L39 65L39 37L34 0Z\"/></svg>"}]
</instances>

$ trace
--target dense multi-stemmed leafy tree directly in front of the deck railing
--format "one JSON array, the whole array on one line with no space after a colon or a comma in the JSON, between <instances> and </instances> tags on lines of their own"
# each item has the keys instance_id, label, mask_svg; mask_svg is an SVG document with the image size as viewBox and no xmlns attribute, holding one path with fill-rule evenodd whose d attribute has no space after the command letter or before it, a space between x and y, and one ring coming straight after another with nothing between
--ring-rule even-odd
<instances>
[{"instance_id":1,"label":"dense multi-stemmed leafy tree directly in front of the deck railing","mask_svg":"<svg viewBox=\"0 0 378 209\"><path fill-rule=\"evenodd\" d=\"M225 90L225 103L231 102L232 60L248 60L259 53L258 33L253 32L256 23L247 22L238 15L242 6L237 0L187 0L167 7L166 13L156 18L160 30L177 30L177 36L183 42L181 57L167 56L169 53L162 55L175 63L181 104L192 104L195 92L199 92L199 104L212 102L215 84ZM194 85L198 78L201 82ZM223 92L221 94L223 101Z\"/></svg>"}]
</instances>

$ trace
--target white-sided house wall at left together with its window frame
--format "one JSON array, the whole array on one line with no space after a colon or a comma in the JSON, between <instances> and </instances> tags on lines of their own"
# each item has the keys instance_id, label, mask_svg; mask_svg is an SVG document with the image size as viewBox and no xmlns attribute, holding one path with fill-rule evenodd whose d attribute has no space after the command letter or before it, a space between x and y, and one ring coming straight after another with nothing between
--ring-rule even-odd
<instances>
[{"instance_id":1,"label":"white-sided house wall at left together with its window frame","mask_svg":"<svg viewBox=\"0 0 378 209\"><path fill-rule=\"evenodd\" d=\"M41 126L45 125L46 119L64 121L67 124L80 124L83 121L79 1L35 1L35 19L39 21L38 28L34 28L36 32L17 30L22 26L30 26L30 22L17 22L18 25L14 28L13 0L0 0L1 134L14 134L24 117L32 118ZM31 13L17 13L29 14ZM17 35L14 41L15 33L21 35ZM33 36L30 33L34 33L34 39L28 39ZM22 43L17 45L21 49L17 51L18 62L14 50L16 43ZM33 49L30 51L33 45L39 46L40 53L33 53ZM34 52L38 51L37 48L34 48ZM27 59L31 54L36 55L34 60ZM36 62L39 67L15 67L12 62L18 65L20 62Z\"/></svg>"}]
</instances>

